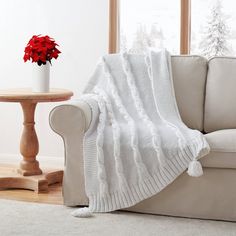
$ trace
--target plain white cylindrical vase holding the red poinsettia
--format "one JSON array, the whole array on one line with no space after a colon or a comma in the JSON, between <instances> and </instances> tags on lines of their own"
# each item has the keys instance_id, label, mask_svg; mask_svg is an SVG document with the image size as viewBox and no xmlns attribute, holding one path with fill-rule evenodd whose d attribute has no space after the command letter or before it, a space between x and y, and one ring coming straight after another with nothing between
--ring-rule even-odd
<instances>
[{"instance_id":1,"label":"plain white cylindrical vase holding the red poinsettia","mask_svg":"<svg viewBox=\"0 0 236 236\"><path fill-rule=\"evenodd\" d=\"M48 93L50 82L50 64L39 66L34 63L32 70L32 92Z\"/></svg>"}]
</instances>

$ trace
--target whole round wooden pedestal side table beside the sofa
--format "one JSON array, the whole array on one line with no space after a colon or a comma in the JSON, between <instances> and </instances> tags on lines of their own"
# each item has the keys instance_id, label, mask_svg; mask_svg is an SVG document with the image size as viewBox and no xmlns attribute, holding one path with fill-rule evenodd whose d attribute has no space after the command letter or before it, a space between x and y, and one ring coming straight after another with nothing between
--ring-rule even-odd
<instances>
[{"instance_id":1,"label":"whole round wooden pedestal side table beside the sofa","mask_svg":"<svg viewBox=\"0 0 236 236\"><path fill-rule=\"evenodd\" d=\"M65 89L51 89L49 93L33 93L30 89L0 90L0 102L18 102L24 115L24 128L20 141L23 160L17 171L0 173L0 189L23 188L47 192L48 186L62 181L63 171L43 172L36 156L39 143L34 128L37 103L69 100L73 93Z\"/></svg>"}]
</instances>

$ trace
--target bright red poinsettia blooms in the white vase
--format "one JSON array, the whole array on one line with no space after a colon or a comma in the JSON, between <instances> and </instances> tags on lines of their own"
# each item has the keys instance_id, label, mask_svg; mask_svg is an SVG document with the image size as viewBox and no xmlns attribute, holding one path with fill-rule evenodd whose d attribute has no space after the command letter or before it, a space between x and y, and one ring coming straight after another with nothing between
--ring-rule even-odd
<instances>
[{"instance_id":1,"label":"bright red poinsettia blooms in the white vase","mask_svg":"<svg viewBox=\"0 0 236 236\"><path fill-rule=\"evenodd\" d=\"M57 59L61 53L56 46L59 46L53 38L48 35L34 35L25 47L24 62L32 60L39 66L45 65L47 61L51 64L51 60Z\"/></svg>"}]
</instances>

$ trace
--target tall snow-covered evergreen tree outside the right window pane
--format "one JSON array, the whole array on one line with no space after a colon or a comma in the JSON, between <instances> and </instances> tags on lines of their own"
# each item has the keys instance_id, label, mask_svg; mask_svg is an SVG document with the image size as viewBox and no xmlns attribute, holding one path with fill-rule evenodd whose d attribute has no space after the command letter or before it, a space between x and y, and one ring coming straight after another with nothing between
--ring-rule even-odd
<instances>
[{"instance_id":1,"label":"tall snow-covered evergreen tree outside the right window pane","mask_svg":"<svg viewBox=\"0 0 236 236\"><path fill-rule=\"evenodd\" d=\"M226 17L222 12L222 4L220 0L216 0L200 42L202 55L207 58L228 55L230 52L227 42L228 36L229 29Z\"/></svg>"}]
</instances>

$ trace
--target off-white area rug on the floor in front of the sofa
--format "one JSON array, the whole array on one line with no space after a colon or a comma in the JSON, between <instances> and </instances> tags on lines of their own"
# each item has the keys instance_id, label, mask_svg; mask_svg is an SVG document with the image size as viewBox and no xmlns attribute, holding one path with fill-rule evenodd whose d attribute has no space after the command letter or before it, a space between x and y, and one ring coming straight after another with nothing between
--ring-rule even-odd
<instances>
[{"instance_id":1,"label":"off-white area rug on the floor in front of the sofa","mask_svg":"<svg viewBox=\"0 0 236 236\"><path fill-rule=\"evenodd\" d=\"M0 235L236 236L236 223L117 212L75 218L59 205L0 200Z\"/></svg>"}]
</instances>

